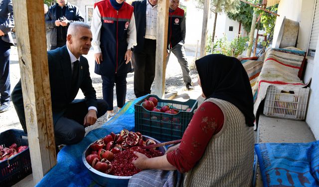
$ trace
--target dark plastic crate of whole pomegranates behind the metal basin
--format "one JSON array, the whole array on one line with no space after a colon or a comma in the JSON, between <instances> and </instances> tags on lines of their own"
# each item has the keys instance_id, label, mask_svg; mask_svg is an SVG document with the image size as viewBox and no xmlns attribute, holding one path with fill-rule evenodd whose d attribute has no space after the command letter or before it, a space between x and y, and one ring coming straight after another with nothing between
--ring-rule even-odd
<instances>
[{"instance_id":1,"label":"dark plastic crate of whole pomegranates behind the metal basin","mask_svg":"<svg viewBox=\"0 0 319 187\"><path fill-rule=\"evenodd\" d=\"M156 97L159 100L158 109L167 105L170 108L177 109L179 112L177 114L167 114L146 110L142 103L150 97ZM162 141L181 139L197 105L198 102L193 99L180 102L160 99L156 95L148 95L134 106L135 131ZM186 112L188 108L190 108L190 111Z\"/></svg>"}]
</instances>

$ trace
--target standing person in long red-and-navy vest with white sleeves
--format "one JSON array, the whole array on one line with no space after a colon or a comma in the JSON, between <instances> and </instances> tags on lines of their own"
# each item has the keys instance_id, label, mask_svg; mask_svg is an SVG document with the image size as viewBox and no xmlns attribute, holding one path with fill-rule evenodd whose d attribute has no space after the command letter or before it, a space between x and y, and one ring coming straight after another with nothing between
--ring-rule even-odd
<instances>
[{"instance_id":1,"label":"standing person in long red-and-navy vest with white sleeves","mask_svg":"<svg viewBox=\"0 0 319 187\"><path fill-rule=\"evenodd\" d=\"M102 0L94 4L91 31L95 73L102 77L103 99L108 103L108 119L114 115L116 84L119 110L126 99L126 77L132 70L131 49L136 45L133 7L124 0Z\"/></svg>"}]
</instances>

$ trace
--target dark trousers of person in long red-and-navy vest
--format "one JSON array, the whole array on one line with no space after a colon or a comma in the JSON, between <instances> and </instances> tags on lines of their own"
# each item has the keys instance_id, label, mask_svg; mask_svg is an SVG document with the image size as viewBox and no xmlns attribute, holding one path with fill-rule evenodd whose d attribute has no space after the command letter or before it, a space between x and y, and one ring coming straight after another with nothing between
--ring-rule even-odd
<instances>
[{"instance_id":1,"label":"dark trousers of person in long red-and-navy vest","mask_svg":"<svg viewBox=\"0 0 319 187\"><path fill-rule=\"evenodd\" d=\"M104 76L102 77L102 93L103 99L108 104L108 111L113 110L113 92L114 85L116 89L116 101L119 108L122 108L125 104L126 99L126 77L127 73L118 75L114 74L113 76Z\"/></svg>"}]
</instances>

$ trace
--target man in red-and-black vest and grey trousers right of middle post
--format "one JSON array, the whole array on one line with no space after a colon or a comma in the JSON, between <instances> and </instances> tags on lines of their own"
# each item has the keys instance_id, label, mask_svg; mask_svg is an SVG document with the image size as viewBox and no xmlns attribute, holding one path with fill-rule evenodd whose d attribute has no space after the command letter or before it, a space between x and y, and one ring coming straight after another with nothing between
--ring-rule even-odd
<instances>
[{"instance_id":1,"label":"man in red-and-black vest and grey trousers right of middle post","mask_svg":"<svg viewBox=\"0 0 319 187\"><path fill-rule=\"evenodd\" d=\"M189 76L188 62L185 54L185 15L184 10L179 8L179 0L169 0L169 16L168 16L168 34L167 45L169 49L168 56L166 58L166 64L168 63L170 52L173 52L176 56L178 63L183 73L183 81L187 90L192 90L194 87L191 84L191 78Z\"/></svg>"}]
</instances>

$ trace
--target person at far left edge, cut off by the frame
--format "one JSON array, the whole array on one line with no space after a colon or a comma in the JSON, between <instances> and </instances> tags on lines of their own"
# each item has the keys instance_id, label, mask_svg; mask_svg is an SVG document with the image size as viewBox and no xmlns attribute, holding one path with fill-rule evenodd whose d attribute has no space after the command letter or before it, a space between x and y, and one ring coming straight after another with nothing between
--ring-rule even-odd
<instances>
[{"instance_id":1,"label":"person at far left edge, cut off by the frame","mask_svg":"<svg viewBox=\"0 0 319 187\"><path fill-rule=\"evenodd\" d=\"M12 0L0 0L0 113L10 106L10 46L14 26Z\"/></svg>"}]
</instances>

